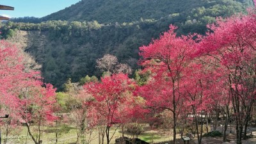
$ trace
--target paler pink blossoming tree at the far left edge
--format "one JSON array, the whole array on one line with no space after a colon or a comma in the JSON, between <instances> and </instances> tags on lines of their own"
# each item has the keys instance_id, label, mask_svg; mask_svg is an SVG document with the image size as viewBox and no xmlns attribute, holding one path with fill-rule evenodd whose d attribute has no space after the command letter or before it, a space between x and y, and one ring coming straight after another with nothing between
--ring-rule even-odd
<instances>
[{"instance_id":1,"label":"paler pink blossoming tree at the far left edge","mask_svg":"<svg viewBox=\"0 0 256 144\"><path fill-rule=\"evenodd\" d=\"M40 143L42 126L54 120L52 106L56 89L43 84L39 72L24 67L21 53L15 45L0 40L1 105L12 111L13 122L24 122L33 141ZM38 126L37 138L30 129L32 121Z\"/></svg>"}]
</instances>

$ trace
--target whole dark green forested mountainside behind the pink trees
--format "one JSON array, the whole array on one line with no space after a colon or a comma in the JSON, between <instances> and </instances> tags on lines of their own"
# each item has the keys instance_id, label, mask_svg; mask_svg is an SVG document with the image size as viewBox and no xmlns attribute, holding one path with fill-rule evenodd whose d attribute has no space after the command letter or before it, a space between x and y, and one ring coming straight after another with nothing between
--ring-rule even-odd
<instances>
[{"instance_id":1,"label":"whole dark green forested mountainside behind the pink trees","mask_svg":"<svg viewBox=\"0 0 256 144\"><path fill-rule=\"evenodd\" d=\"M95 63L104 54L138 68L138 47L169 24L179 27L179 35L204 33L216 17L245 12L250 5L251 0L83 0L42 19L13 19L1 27L1 36L24 44L42 65L45 82L61 88L68 78L100 76Z\"/></svg>"}]
</instances>

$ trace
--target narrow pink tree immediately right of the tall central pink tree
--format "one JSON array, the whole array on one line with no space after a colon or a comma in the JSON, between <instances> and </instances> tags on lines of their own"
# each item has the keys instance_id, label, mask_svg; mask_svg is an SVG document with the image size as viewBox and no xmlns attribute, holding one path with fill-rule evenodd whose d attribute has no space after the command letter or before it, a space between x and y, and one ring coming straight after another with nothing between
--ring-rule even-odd
<instances>
[{"instance_id":1,"label":"narrow pink tree immediately right of the tall central pink tree","mask_svg":"<svg viewBox=\"0 0 256 144\"><path fill-rule=\"evenodd\" d=\"M184 77L184 97L195 121L195 132L198 143L202 143L204 123L208 121L208 115L214 111L215 100L218 99L218 74L214 67L209 66L202 59L193 60L186 70ZM208 129L208 125L206 125Z\"/></svg>"}]
</instances>

